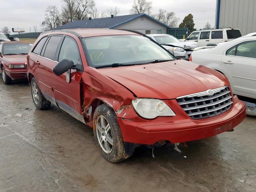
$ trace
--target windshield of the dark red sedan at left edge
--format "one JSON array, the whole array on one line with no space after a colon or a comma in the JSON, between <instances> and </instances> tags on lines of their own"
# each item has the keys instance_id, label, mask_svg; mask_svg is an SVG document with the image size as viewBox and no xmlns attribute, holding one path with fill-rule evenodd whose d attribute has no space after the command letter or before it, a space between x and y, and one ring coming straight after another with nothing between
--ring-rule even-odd
<instances>
[{"instance_id":1,"label":"windshield of the dark red sedan at left edge","mask_svg":"<svg viewBox=\"0 0 256 192\"><path fill-rule=\"evenodd\" d=\"M6 43L4 44L4 55L28 54L33 44L28 43Z\"/></svg>"}]
</instances>

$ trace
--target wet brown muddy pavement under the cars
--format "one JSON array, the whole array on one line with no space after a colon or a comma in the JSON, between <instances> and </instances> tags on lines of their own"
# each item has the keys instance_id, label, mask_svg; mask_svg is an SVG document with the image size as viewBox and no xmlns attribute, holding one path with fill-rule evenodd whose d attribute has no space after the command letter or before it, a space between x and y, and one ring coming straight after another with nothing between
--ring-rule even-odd
<instances>
[{"instance_id":1,"label":"wet brown muddy pavement under the cars","mask_svg":"<svg viewBox=\"0 0 256 192\"><path fill-rule=\"evenodd\" d=\"M256 191L256 117L182 153L140 147L113 164L91 128L54 106L36 110L27 82L0 80L0 114L0 192Z\"/></svg>"}]
</instances>

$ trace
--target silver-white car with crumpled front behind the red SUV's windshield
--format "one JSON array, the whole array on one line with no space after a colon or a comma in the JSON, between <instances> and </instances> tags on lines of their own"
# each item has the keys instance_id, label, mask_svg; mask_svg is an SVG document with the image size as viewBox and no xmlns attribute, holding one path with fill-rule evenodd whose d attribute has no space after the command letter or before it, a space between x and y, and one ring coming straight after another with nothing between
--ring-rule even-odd
<instances>
[{"instance_id":1,"label":"silver-white car with crumpled front behind the red SUV's windshield","mask_svg":"<svg viewBox=\"0 0 256 192\"><path fill-rule=\"evenodd\" d=\"M183 42L168 34L150 34L147 36L173 52L174 56L180 59L189 60L192 49L198 47L196 42Z\"/></svg>"}]
</instances>

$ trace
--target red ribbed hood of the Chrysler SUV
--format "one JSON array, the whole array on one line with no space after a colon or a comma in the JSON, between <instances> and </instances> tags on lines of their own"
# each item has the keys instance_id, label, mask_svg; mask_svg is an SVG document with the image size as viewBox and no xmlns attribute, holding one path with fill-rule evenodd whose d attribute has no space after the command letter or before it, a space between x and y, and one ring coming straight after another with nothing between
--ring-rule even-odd
<instances>
[{"instance_id":1,"label":"red ribbed hood of the Chrysler SUV","mask_svg":"<svg viewBox=\"0 0 256 192\"><path fill-rule=\"evenodd\" d=\"M173 99L228 85L222 74L185 60L102 68L98 72L139 98Z\"/></svg>"}]
</instances>

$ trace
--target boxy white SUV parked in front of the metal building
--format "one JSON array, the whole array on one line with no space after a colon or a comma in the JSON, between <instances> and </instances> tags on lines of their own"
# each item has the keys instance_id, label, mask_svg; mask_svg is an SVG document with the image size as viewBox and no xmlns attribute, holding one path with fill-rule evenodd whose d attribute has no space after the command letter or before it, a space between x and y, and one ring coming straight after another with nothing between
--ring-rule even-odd
<instances>
[{"instance_id":1,"label":"boxy white SUV parked in front of the metal building","mask_svg":"<svg viewBox=\"0 0 256 192\"><path fill-rule=\"evenodd\" d=\"M231 41L241 36L240 30L234 28L198 30L192 32L185 42L197 42L199 47L212 46L218 45L220 42Z\"/></svg>"}]
</instances>

